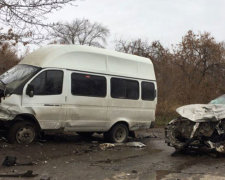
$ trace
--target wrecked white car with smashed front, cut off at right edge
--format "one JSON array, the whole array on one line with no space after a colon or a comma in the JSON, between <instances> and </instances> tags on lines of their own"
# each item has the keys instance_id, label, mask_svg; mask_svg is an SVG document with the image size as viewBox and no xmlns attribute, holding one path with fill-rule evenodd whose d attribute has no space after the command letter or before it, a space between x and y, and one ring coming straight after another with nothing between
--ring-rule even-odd
<instances>
[{"instance_id":1,"label":"wrecked white car with smashed front, cut off at right edge","mask_svg":"<svg viewBox=\"0 0 225 180\"><path fill-rule=\"evenodd\" d=\"M165 128L165 141L176 150L215 150L225 153L225 95L209 104L178 108L180 115Z\"/></svg>"}]
</instances>

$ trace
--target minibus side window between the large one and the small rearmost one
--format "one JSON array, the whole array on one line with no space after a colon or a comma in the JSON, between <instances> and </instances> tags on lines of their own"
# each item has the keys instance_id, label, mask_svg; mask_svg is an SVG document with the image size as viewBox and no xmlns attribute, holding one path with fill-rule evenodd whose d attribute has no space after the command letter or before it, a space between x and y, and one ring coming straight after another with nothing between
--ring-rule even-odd
<instances>
[{"instance_id":1,"label":"minibus side window between the large one and the small rearmost one","mask_svg":"<svg viewBox=\"0 0 225 180\"><path fill-rule=\"evenodd\" d=\"M139 83L135 80L111 78L111 96L119 99L138 99Z\"/></svg>"}]
</instances>

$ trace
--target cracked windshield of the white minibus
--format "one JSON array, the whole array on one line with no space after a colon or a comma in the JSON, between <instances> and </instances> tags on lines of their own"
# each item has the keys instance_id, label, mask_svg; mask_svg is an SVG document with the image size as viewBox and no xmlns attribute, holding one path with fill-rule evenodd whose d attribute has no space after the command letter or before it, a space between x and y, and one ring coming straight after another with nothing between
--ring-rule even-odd
<instances>
[{"instance_id":1,"label":"cracked windshield of the white minibus","mask_svg":"<svg viewBox=\"0 0 225 180\"><path fill-rule=\"evenodd\" d=\"M4 88L14 89L20 85L24 79L39 70L38 67L26 64L18 64L0 76L0 84ZM1 87L2 87L1 86Z\"/></svg>"}]
</instances>

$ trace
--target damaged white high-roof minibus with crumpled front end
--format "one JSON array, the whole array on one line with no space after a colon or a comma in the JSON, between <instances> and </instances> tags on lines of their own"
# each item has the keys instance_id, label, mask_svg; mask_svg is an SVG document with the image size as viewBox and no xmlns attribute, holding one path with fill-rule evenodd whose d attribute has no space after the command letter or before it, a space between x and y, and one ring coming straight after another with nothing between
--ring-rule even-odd
<instances>
[{"instance_id":1,"label":"damaged white high-roof minibus with crumpled front end","mask_svg":"<svg viewBox=\"0 0 225 180\"><path fill-rule=\"evenodd\" d=\"M112 142L155 121L151 60L78 45L49 45L0 76L0 127L29 144L41 132L104 133Z\"/></svg>"}]
</instances>

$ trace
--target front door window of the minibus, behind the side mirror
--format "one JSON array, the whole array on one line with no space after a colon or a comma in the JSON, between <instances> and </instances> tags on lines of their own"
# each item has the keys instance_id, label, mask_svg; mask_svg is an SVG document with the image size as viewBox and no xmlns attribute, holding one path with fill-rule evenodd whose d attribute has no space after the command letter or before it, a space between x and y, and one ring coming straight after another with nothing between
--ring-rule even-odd
<instances>
[{"instance_id":1,"label":"front door window of the minibus, behind the side mirror","mask_svg":"<svg viewBox=\"0 0 225 180\"><path fill-rule=\"evenodd\" d=\"M63 71L47 70L39 74L30 85L34 88L34 95L62 94Z\"/></svg>"}]
</instances>

